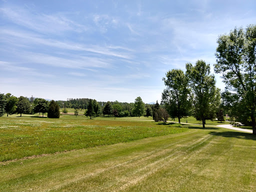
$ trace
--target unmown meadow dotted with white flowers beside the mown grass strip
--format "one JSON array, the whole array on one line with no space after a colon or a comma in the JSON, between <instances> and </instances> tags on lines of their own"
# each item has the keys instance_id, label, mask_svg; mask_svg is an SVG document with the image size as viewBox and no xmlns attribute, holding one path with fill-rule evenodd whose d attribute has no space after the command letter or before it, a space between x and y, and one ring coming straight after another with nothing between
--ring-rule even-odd
<instances>
[{"instance_id":1,"label":"unmown meadow dotted with white flowers beside the mown grass strip","mask_svg":"<svg viewBox=\"0 0 256 192\"><path fill-rule=\"evenodd\" d=\"M179 124L62 115L0 118L0 161L186 131Z\"/></svg>"}]
</instances>

